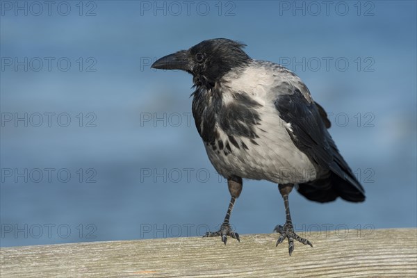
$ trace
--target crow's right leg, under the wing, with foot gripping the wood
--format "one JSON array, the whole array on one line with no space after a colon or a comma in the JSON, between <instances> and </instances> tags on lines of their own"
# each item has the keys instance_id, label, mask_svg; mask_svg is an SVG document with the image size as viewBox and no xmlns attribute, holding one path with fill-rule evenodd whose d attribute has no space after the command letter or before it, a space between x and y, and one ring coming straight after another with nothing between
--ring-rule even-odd
<instances>
[{"instance_id":1,"label":"crow's right leg, under the wing, with foot gripping the wood","mask_svg":"<svg viewBox=\"0 0 417 278\"><path fill-rule=\"evenodd\" d=\"M293 190L293 186L293 183L278 185L279 193L281 193L282 197L284 198L286 222L284 227L277 225L277 227L274 229L274 231L277 231L279 234L281 234L281 236L278 238L277 246L284 240L284 238L288 238L288 251L290 252L290 256L294 251L294 239L300 241L300 243L308 244L313 247L309 240L298 236L294 232L293 222L291 222L290 205L288 204L288 194L290 194L291 190Z\"/></svg>"}]
</instances>

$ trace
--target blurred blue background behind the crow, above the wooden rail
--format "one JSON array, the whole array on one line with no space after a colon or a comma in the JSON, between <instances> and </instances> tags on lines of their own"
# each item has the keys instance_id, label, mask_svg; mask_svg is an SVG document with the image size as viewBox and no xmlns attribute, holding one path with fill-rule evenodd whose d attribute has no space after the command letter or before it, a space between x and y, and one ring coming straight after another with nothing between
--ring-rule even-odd
<instances>
[{"instance_id":1,"label":"blurred blue background behind the crow, above the wooden rail","mask_svg":"<svg viewBox=\"0 0 417 278\"><path fill-rule=\"evenodd\" d=\"M416 1L1 1L0 19L1 247L218 228L229 192L191 76L150 69L208 38L295 71L366 189L362 204L292 193L297 230L416 227ZM284 220L276 184L244 181L239 234Z\"/></svg>"}]
</instances>

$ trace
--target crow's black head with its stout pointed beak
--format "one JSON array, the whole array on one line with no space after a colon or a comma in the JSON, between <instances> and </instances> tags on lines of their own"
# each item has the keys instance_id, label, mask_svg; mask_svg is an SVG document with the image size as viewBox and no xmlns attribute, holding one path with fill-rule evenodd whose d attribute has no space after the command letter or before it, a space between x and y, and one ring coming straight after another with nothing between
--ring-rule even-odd
<instances>
[{"instance_id":1,"label":"crow's black head with its stout pointed beak","mask_svg":"<svg viewBox=\"0 0 417 278\"><path fill-rule=\"evenodd\" d=\"M231 69L250 61L245 44L228 39L204 40L188 50L167 55L152 65L155 69L185 70L197 86L212 88Z\"/></svg>"}]
</instances>

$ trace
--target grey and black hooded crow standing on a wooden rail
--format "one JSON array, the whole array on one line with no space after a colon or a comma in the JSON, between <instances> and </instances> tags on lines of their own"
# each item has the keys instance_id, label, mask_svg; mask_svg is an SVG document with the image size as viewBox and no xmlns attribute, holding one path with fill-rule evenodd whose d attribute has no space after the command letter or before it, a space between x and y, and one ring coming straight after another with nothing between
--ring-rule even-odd
<instances>
[{"instance_id":1,"label":"grey and black hooded crow standing on a wooden rail","mask_svg":"<svg viewBox=\"0 0 417 278\"><path fill-rule=\"evenodd\" d=\"M330 202L341 197L363 202L364 190L332 140L327 113L290 70L243 51L245 44L224 38L204 40L188 50L167 55L156 69L184 70L193 75L193 116L208 158L227 179L231 200L219 231L240 241L229 218L242 179L278 183L286 222L277 225L277 245L288 238L313 246L295 234L288 194L297 189L307 199Z\"/></svg>"}]
</instances>

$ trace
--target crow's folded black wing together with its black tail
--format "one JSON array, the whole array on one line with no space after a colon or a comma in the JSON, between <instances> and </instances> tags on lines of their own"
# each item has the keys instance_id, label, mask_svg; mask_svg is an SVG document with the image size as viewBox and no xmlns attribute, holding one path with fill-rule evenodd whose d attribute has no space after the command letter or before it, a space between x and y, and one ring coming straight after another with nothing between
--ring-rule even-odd
<instances>
[{"instance_id":1,"label":"crow's folded black wing together with its black tail","mask_svg":"<svg viewBox=\"0 0 417 278\"><path fill-rule=\"evenodd\" d=\"M280 95L275 100L279 117L291 124L287 129L295 146L316 165L318 179L300 183L298 191L307 199L330 202L337 197L350 202L362 202L364 190L352 170L338 152L327 131L327 113L316 102L309 102L299 89Z\"/></svg>"}]
</instances>

